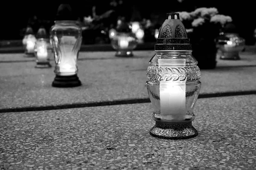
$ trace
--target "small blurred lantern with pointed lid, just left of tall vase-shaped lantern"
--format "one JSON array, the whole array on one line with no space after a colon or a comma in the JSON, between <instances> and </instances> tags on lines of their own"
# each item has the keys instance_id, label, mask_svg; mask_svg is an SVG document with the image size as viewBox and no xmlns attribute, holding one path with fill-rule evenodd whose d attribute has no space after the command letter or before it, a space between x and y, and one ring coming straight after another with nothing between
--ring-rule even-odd
<instances>
[{"instance_id":1,"label":"small blurred lantern with pointed lid, just left of tall vase-shaped lantern","mask_svg":"<svg viewBox=\"0 0 256 170\"><path fill-rule=\"evenodd\" d=\"M35 68L50 68L51 65L49 60L53 53L51 45L49 44L49 37L43 26L38 30L34 51L36 57Z\"/></svg>"}]
</instances>

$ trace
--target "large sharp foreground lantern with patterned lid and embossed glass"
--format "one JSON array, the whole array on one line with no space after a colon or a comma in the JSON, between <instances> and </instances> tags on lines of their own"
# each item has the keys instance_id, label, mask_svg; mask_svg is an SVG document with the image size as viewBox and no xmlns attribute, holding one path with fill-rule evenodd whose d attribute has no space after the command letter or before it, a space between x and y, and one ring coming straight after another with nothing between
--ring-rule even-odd
<instances>
[{"instance_id":1,"label":"large sharp foreground lantern with patterned lid and embossed glass","mask_svg":"<svg viewBox=\"0 0 256 170\"><path fill-rule=\"evenodd\" d=\"M177 16L177 19L175 19ZM198 135L193 109L201 88L200 69L179 14L170 13L159 30L147 69L147 90L155 121L150 134L164 139Z\"/></svg>"}]
</instances>

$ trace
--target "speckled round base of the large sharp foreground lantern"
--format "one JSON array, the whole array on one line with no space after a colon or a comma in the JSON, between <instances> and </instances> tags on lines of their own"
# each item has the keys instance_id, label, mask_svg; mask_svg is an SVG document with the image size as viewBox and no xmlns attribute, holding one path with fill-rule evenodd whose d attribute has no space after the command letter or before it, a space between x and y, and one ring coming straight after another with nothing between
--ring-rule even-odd
<instances>
[{"instance_id":1,"label":"speckled round base of the large sharp foreground lantern","mask_svg":"<svg viewBox=\"0 0 256 170\"><path fill-rule=\"evenodd\" d=\"M198 131L192 126L192 121L182 123L163 123L156 121L149 134L163 139L189 139L198 136Z\"/></svg>"}]
</instances>

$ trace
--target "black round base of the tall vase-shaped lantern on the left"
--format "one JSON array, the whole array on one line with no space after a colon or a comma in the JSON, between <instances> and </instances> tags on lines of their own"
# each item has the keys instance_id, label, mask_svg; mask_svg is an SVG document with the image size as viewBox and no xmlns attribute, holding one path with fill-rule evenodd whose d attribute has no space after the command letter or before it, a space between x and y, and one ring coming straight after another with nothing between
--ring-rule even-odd
<instances>
[{"instance_id":1,"label":"black round base of the tall vase-shaped lantern on the left","mask_svg":"<svg viewBox=\"0 0 256 170\"><path fill-rule=\"evenodd\" d=\"M81 81L79 77L76 75L73 76L58 76L54 78L52 82L52 87L57 88L70 88L70 87L77 87L81 85Z\"/></svg>"}]
</instances>

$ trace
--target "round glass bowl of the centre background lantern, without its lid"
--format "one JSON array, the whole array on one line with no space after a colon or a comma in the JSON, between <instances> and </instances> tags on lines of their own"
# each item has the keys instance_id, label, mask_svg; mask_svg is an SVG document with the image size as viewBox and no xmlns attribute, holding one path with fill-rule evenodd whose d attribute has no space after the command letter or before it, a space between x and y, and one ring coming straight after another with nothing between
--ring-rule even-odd
<instances>
[{"instance_id":1,"label":"round glass bowl of the centre background lantern, without its lid","mask_svg":"<svg viewBox=\"0 0 256 170\"><path fill-rule=\"evenodd\" d=\"M133 56L133 50L137 47L137 39L130 32L116 32L116 36L111 40L113 49L116 50L116 56L130 57Z\"/></svg>"}]
</instances>

